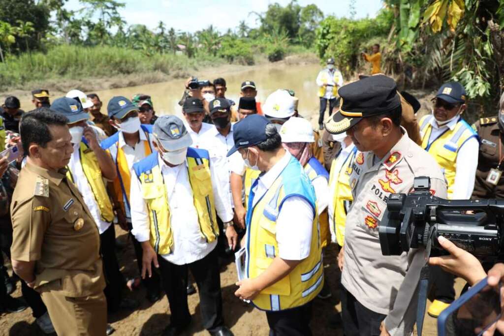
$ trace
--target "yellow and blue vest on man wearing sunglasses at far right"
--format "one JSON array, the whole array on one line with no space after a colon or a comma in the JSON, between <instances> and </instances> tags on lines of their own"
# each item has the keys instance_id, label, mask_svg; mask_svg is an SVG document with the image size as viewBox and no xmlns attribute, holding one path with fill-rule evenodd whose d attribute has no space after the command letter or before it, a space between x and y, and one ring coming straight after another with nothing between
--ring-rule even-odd
<instances>
[{"instance_id":1,"label":"yellow and blue vest on man wearing sunglasses at far right","mask_svg":"<svg viewBox=\"0 0 504 336\"><path fill-rule=\"evenodd\" d=\"M448 198L453 195L453 185L457 171L457 154L466 141L475 137L477 133L462 118L459 119L455 128L447 129L442 135L429 144L429 137L432 131L430 120L434 116L428 114L420 119L420 136L422 137L422 148L432 155L439 166L441 166L448 184Z\"/></svg>"}]
</instances>

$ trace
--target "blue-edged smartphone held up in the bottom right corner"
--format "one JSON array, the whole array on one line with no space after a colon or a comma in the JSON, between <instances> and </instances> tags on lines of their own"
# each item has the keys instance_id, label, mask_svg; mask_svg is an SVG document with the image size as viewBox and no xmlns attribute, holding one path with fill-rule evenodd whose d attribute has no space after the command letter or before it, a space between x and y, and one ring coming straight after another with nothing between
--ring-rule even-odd
<instances>
[{"instance_id":1,"label":"blue-edged smartphone held up in the bottom right corner","mask_svg":"<svg viewBox=\"0 0 504 336\"><path fill-rule=\"evenodd\" d=\"M441 316L444 321L440 335L481 335L491 327L501 316L500 286L490 287L484 284L479 288L469 289L459 299L447 308L447 316ZM439 332L442 331L442 332Z\"/></svg>"}]
</instances>

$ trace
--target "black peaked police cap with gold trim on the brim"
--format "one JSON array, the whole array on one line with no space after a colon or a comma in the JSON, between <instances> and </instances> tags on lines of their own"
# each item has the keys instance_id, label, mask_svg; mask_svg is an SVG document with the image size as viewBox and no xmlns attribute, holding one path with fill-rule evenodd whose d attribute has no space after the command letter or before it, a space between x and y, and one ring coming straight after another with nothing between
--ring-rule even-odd
<instances>
[{"instance_id":1,"label":"black peaked police cap with gold trim on the brim","mask_svg":"<svg viewBox=\"0 0 504 336\"><path fill-rule=\"evenodd\" d=\"M325 125L332 134L347 131L362 118L390 112L401 106L396 82L384 75L370 76L342 86L338 94L341 97L340 110Z\"/></svg>"}]
</instances>

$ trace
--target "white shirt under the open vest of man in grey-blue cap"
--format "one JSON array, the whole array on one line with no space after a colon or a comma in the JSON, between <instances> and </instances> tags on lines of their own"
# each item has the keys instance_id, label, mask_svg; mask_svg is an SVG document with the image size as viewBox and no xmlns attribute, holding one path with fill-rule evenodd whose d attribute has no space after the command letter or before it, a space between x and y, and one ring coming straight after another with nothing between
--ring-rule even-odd
<instances>
[{"instance_id":1,"label":"white shirt under the open vest of man in grey-blue cap","mask_svg":"<svg viewBox=\"0 0 504 336\"><path fill-rule=\"evenodd\" d=\"M173 232L172 252L163 254L162 257L176 265L200 260L215 248L217 239L207 243L201 236L198 213L194 206L193 189L187 173L187 161L178 166L170 167L164 163L158 154L158 162L168 197L170 225ZM219 216L224 216L223 213L226 210L222 201L220 201L219 186L213 182L215 175L212 166L210 166L210 172L212 174L215 208ZM131 194L142 194L142 186L138 178L132 178L131 180ZM135 238L140 242L149 240L149 213L147 204L142 197L131 197L131 215L132 233Z\"/></svg>"}]
</instances>

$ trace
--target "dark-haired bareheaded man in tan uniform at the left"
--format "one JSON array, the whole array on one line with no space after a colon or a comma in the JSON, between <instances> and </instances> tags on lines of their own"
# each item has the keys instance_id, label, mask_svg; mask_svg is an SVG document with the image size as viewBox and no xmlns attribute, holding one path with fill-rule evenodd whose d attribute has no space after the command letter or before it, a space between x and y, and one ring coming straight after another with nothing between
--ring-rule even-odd
<instances>
[{"instance_id":1,"label":"dark-haired bareheaded man in tan uniform at the left","mask_svg":"<svg viewBox=\"0 0 504 336\"><path fill-rule=\"evenodd\" d=\"M66 178L74 151L67 123L48 109L21 121L28 158L12 197L12 265L41 294L58 335L104 335L100 236L79 190Z\"/></svg>"}]
</instances>

